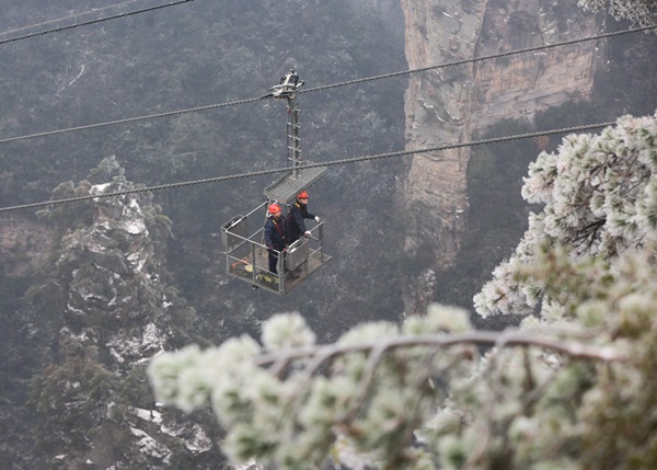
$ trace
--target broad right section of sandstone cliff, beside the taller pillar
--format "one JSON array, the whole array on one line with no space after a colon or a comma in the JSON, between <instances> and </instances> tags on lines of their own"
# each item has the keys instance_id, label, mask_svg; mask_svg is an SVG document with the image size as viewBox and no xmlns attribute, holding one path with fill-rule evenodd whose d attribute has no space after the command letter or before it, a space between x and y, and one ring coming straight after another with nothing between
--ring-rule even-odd
<instances>
[{"instance_id":1,"label":"broad right section of sandstone cliff, beside the taller pillar","mask_svg":"<svg viewBox=\"0 0 657 470\"><path fill-rule=\"evenodd\" d=\"M504 3L504 7L499 7ZM561 2L489 2L476 56L506 53L595 35L596 16ZM475 129L502 118L528 118L573 99L589 98L600 64L595 41L476 64L472 106Z\"/></svg>"}]
</instances>

